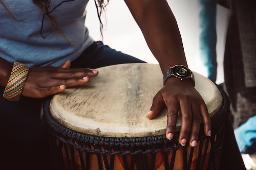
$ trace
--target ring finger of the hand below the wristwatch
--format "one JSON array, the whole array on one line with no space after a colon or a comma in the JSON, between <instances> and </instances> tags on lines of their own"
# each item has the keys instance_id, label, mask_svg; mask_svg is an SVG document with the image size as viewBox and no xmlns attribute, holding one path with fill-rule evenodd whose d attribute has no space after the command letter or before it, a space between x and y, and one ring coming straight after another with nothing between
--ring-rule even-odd
<instances>
[{"instance_id":1,"label":"ring finger of the hand below the wristwatch","mask_svg":"<svg viewBox=\"0 0 256 170\"><path fill-rule=\"evenodd\" d=\"M192 116L191 130L190 130L189 145L191 147L195 147L198 143L198 134L199 134L200 123L201 123L199 105L193 105L192 112L193 112L193 116Z\"/></svg>"}]
</instances>

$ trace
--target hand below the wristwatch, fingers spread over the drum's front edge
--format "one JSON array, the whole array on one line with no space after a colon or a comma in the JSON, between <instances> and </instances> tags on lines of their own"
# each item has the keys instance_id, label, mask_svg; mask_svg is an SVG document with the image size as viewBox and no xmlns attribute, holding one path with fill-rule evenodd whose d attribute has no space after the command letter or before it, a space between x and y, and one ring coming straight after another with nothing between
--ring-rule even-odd
<instances>
[{"instance_id":1,"label":"hand below the wristwatch, fingers spread over the drum's front edge","mask_svg":"<svg viewBox=\"0 0 256 170\"><path fill-rule=\"evenodd\" d=\"M186 145L187 141L191 147L197 145L201 118L204 123L204 133L211 136L211 120L207 106L193 87L191 80L180 81L174 77L169 78L153 98L153 104L146 117L155 118L165 107L167 107L167 139L173 139L178 111L182 114L179 136L179 143L182 146Z\"/></svg>"}]
</instances>

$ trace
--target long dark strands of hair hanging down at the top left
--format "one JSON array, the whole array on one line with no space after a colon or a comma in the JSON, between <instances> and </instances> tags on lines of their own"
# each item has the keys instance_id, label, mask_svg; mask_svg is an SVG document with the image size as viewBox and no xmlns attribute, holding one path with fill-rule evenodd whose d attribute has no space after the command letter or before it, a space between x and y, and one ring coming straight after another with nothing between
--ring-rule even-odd
<instances>
[{"instance_id":1,"label":"long dark strands of hair hanging down at the top left","mask_svg":"<svg viewBox=\"0 0 256 170\"><path fill-rule=\"evenodd\" d=\"M32 0L32 2L34 4L36 4L42 11L43 11L43 18L42 18L42 25L41 25L41 29L40 29L40 34L43 38L46 38L48 35L44 36L43 35L43 22L44 22L44 18L45 16L47 16L47 18L49 18L49 20L52 23L52 26L55 29L58 29L60 31L60 34L68 41L70 42L72 45L75 45L71 40L69 40L67 38L67 36L65 36L65 34L63 33L63 30L61 29L60 25L58 24L58 20L51 15L51 13L59 6L61 6L61 4L65 3L65 2L71 2L74 0L63 0L61 3L59 3L56 7L54 7L51 11L49 11L49 7L50 7L50 3L51 0ZM99 18L99 22L100 22L100 32L101 32L101 38L103 40L103 24L101 22L101 13L104 11L106 11L106 6L108 4L109 0L107 0L107 3L105 4L104 0L94 0L95 6L97 8L97 15ZM0 0L0 3L2 4L2 6L4 7L4 9L9 13L9 15L13 18L13 20L20 22L20 20L17 20L15 18L15 16L13 16L13 14L11 13L11 11L9 11L9 9L6 7L6 5L4 4L4 2L2 0Z\"/></svg>"}]
</instances>

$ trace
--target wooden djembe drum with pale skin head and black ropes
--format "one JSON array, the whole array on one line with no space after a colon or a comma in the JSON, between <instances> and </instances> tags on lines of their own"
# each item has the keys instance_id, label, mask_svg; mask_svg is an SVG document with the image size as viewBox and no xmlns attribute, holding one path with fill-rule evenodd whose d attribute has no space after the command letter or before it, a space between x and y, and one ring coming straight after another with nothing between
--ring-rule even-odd
<instances>
[{"instance_id":1,"label":"wooden djembe drum with pale skin head and black ropes","mask_svg":"<svg viewBox=\"0 0 256 170\"><path fill-rule=\"evenodd\" d=\"M204 135L201 125L198 145L182 147L180 117L172 140L165 137L166 109L155 119L146 118L162 88L159 65L121 64L98 70L90 83L54 95L43 107L55 170L218 169L229 117L225 92L194 72L195 88L211 117L211 137Z\"/></svg>"}]
</instances>

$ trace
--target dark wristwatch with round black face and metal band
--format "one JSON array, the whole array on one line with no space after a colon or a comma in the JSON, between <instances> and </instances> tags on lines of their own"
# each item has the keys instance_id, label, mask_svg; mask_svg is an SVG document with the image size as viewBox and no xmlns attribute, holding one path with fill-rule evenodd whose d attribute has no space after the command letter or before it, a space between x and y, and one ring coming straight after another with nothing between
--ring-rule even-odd
<instances>
[{"instance_id":1,"label":"dark wristwatch with round black face and metal band","mask_svg":"<svg viewBox=\"0 0 256 170\"><path fill-rule=\"evenodd\" d=\"M165 81L171 76L180 78L180 80L185 78L191 78L192 83L195 87L195 78L194 78L193 72L191 72L191 70L184 65L175 65L170 69L168 69L167 72L164 74L163 83L165 83Z\"/></svg>"}]
</instances>

